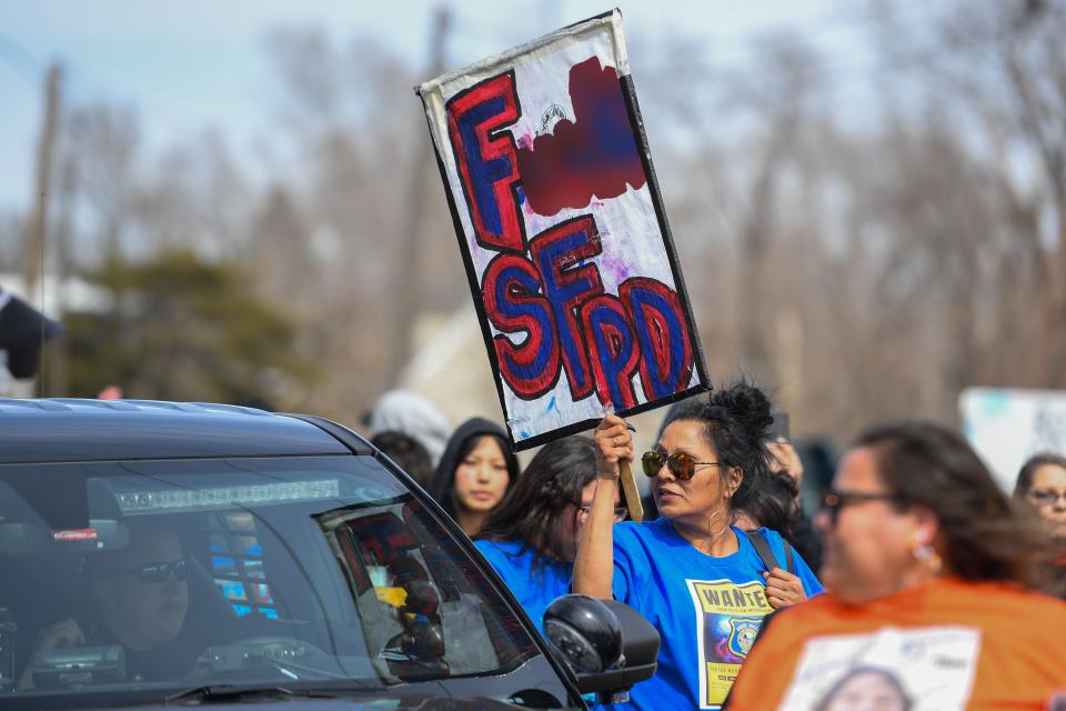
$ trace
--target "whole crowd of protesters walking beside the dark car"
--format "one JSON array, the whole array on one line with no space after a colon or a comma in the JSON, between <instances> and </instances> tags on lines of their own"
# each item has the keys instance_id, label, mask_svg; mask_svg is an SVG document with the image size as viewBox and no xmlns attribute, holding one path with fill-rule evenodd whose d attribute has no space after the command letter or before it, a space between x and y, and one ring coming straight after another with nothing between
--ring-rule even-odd
<instances>
[{"instance_id":1,"label":"whole crowd of protesters walking beside the dark car","mask_svg":"<svg viewBox=\"0 0 1066 711\"><path fill-rule=\"evenodd\" d=\"M803 462L746 382L672 407L646 452L607 414L592 437L545 444L522 471L499 425L476 418L445 441L439 413L418 409L421 423L373 428L373 441L474 540L537 627L552 600L581 593L625 602L658 630L655 677L619 708L1062 703L1063 454L1026 462L1012 498L954 430L874 425L812 519ZM626 520L622 462L651 484L642 522Z\"/></svg>"}]
</instances>

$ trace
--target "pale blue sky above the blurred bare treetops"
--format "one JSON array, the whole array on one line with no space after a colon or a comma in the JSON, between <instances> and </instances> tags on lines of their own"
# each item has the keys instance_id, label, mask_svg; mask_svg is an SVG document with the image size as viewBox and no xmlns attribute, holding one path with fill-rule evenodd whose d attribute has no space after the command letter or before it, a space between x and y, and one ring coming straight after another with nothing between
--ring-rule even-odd
<instances>
[{"instance_id":1,"label":"pale blue sky above the blurred bare treetops","mask_svg":"<svg viewBox=\"0 0 1066 711\"><path fill-rule=\"evenodd\" d=\"M284 26L321 27L344 46L376 38L412 67L426 62L433 0L0 0L0 213L30 202L43 74L61 60L68 99L132 106L143 140L159 150L214 128L239 158L270 126L270 62L263 39ZM587 0L452 2L447 67L455 69L593 14L611 4ZM829 51L864 41L861 0L621 1L631 64L686 36L706 42L708 59L744 61L752 37L800 29ZM824 40L824 41L822 41ZM638 87L638 84L637 84ZM415 98L412 93L412 103Z\"/></svg>"}]
</instances>

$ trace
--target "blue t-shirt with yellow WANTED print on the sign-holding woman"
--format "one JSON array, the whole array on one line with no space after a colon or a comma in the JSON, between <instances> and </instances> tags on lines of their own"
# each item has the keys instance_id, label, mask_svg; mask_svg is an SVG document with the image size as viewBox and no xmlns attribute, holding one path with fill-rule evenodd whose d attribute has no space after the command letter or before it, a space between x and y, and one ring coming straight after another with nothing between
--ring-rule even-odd
<instances>
[{"instance_id":1,"label":"blue t-shirt with yellow WANTED print on the sign-holding woman","mask_svg":"<svg viewBox=\"0 0 1066 711\"><path fill-rule=\"evenodd\" d=\"M628 709L717 709L744 663L763 618L766 567L747 535L765 535L784 567L776 531L744 534L740 549L714 558L684 540L668 519L614 527L614 599L643 614L662 637L658 670L630 694ZM814 573L793 551L792 572L807 595L822 592Z\"/></svg>"}]
</instances>

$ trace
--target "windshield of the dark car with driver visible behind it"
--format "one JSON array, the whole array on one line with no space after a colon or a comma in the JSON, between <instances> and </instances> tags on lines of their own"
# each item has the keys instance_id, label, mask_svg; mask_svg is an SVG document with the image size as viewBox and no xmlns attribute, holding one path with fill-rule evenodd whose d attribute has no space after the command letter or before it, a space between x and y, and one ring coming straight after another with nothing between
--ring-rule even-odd
<instances>
[{"instance_id":1,"label":"windshield of the dark car with driver visible behind it","mask_svg":"<svg viewBox=\"0 0 1066 711\"><path fill-rule=\"evenodd\" d=\"M381 689L539 654L368 457L0 465L0 700Z\"/></svg>"}]
</instances>

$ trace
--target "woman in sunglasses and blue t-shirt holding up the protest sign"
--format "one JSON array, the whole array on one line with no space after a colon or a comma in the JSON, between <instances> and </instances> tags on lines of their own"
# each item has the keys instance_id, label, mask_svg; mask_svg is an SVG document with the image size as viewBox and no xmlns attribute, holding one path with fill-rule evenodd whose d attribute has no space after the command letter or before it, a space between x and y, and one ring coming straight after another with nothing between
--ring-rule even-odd
<instances>
[{"instance_id":1,"label":"woman in sunglasses and blue t-shirt holding up the protest sign","mask_svg":"<svg viewBox=\"0 0 1066 711\"><path fill-rule=\"evenodd\" d=\"M807 564L767 570L755 545L785 560L781 535L730 525L766 475L770 402L740 383L671 410L641 458L660 517L614 523L620 462L633 459L625 421L595 431L597 485L574 568L574 591L611 598L658 629L655 678L636 684L635 709L717 708L747 657L763 617L822 591ZM754 541L754 543L753 543Z\"/></svg>"}]
</instances>

